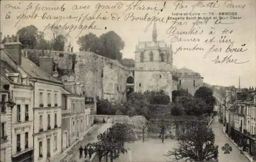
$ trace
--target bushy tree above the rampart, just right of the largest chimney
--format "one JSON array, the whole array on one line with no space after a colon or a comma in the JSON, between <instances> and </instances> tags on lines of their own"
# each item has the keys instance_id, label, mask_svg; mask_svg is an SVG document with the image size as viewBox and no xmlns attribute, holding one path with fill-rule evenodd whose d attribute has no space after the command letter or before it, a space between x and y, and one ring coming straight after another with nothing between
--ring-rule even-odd
<instances>
[{"instance_id":1,"label":"bushy tree above the rampart, just right of the largest chimney","mask_svg":"<svg viewBox=\"0 0 256 162\"><path fill-rule=\"evenodd\" d=\"M38 29L33 26L27 26L19 29L17 31L17 34L19 35L19 41L24 45L25 48L28 49L42 49L38 47L39 42L45 41L44 40L44 33L38 31Z\"/></svg>"}]
</instances>

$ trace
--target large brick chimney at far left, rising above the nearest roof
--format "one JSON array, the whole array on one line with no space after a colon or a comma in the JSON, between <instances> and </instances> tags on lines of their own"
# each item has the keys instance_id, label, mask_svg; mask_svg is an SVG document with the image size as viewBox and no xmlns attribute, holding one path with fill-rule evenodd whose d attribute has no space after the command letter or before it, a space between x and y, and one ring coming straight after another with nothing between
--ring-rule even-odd
<instances>
[{"instance_id":1,"label":"large brick chimney at far left, rising above the nearest roof","mask_svg":"<svg viewBox=\"0 0 256 162\"><path fill-rule=\"evenodd\" d=\"M5 38L4 48L9 55L14 59L15 63L20 65L22 63L22 43L19 42L19 35L12 35L12 37Z\"/></svg>"}]
</instances>

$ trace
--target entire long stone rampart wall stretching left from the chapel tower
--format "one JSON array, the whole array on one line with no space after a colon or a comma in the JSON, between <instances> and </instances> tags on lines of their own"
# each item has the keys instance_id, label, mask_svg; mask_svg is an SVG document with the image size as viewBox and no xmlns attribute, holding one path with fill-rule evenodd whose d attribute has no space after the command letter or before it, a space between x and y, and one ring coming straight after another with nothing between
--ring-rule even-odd
<instances>
[{"instance_id":1,"label":"entire long stone rampart wall stretching left from the chapel tower","mask_svg":"<svg viewBox=\"0 0 256 162\"><path fill-rule=\"evenodd\" d=\"M42 55L52 57L57 63L58 79L65 82L70 76L74 76L75 82L83 85L82 91L87 97L98 96L100 99L112 101L125 100L126 79L133 68L92 52L50 52L31 49L24 51L28 51L36 58Z\"/></svg>"}]
</instances>

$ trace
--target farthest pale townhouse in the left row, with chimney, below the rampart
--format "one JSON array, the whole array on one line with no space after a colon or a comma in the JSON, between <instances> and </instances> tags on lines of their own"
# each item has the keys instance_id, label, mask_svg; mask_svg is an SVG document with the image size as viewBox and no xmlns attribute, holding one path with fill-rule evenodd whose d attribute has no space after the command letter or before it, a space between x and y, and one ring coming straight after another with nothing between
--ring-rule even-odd
<instances>
[{"instance_id":1,"label":"farthest pale townhouse in the left row, with chimney, below the rampart","mask_svg":"<svg viewBox=\"0 0 256 162\"><path fill-rule=\"evenodd\" d=\"M90 128L90 108L86 107L83 86L70 76L62 89L62 138L61 148L66 150L83 138Z\"/></svg>"}]
</instances>

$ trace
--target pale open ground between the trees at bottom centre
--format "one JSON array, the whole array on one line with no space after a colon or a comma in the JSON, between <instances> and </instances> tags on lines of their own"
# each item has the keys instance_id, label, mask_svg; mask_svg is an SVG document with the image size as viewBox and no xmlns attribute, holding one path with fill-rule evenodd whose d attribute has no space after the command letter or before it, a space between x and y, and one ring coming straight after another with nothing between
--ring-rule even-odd
<instances>
[{"instance_id":1,"label":"pale open ground between the trees at bottom centre","mask_svg":"<svg viewBox=\"0 0 256 162\"><path fill-rule=\"evenodd\" d=\"M160 139L136 141L134 143L127 143L125 147L130 149L125 154L121 154L115 162L165 162L170 160L163 154L168 150L172 150L177 146L177 141L166 139L164 143Z\"/></svg>"}]
</instances>

